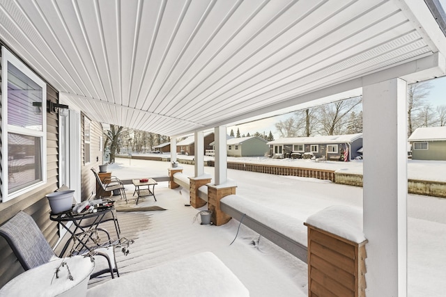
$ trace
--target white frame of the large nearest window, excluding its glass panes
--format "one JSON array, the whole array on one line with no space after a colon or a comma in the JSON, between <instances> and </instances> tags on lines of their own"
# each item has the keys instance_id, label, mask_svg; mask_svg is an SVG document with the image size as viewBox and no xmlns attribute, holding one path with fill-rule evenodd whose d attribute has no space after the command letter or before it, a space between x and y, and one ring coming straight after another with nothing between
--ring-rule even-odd
<instances>
[{"instance_id":1,"label":"white frame of the large nearest window, excluding its glass panes","mask_svg":"<svg viewBox=\"0 0 446 297\"><path fill-rule=\"evenodd\" d=\"M36 83L40 88L42 88L42 103L41 103L41 111L42 111L42 131L37 131L33 129L28 129L24 127L17 127L14 125L8 125L8 65L11 64L16 67L20 72L22 72L28 79ZM14 198L19 197L20 195L24 195L29 191L32 191L35 188L43 186L47 183L47 83L40 79L36 73L31 70L27 65L25 65L22 61L19 60L13 53L8 51L6 47L1 47L1 65L3 66L1 69L1 140L2 147L1 150L3 152L1 157L1 168L3 168L1 172L1 180L3 181L1 184L1 202L7 202L13 200ZM8 135L9 134L20 134L22 136L31 136L40 139L40 176L41 179L39 181L35 181L28 186L24 186L16 191L9 191L8 188Z\"/></svg>"}]
</instances>

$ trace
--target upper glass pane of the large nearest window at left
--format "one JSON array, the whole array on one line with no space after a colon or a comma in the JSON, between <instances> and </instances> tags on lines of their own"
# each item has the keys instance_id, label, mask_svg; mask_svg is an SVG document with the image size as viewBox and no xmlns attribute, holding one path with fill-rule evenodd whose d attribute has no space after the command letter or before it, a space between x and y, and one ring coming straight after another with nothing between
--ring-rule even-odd
<instances>
[{"instance_id":1,"label":"upper glass pane of the large nearest window at left","mask_svg":"<svg viewBox=\"0 0 446 297\"><path fill-rule=\"evenodd\" d=\"M8 125L43 131L42 102L43 88L8 63Z\"/></svg>"}]
</instances>

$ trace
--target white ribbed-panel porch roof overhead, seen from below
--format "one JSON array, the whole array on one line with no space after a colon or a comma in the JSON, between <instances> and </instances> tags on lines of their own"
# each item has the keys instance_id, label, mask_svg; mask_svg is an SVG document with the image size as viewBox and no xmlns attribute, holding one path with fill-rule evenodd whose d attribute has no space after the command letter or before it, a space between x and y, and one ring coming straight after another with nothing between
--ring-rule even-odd
<instances>
[{"instance_id":1,"label":"white ribbed-panel porch roof overhead, seen from below","mask_svg":"<svg viewBox=\"0 0 446 297\"><path fill-rule=\"evenodd\" d=\"M183 136L297 110L363 84L445 75L438 5L1 1L0 38L71 109Z\"/></svg>"}]
</instances>

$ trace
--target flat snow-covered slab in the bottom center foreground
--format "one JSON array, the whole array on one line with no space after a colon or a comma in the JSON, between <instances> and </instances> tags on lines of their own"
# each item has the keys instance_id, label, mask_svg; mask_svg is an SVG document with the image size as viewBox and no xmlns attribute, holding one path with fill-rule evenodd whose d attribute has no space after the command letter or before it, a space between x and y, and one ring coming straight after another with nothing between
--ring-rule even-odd
<instances>
[{"instance_id":1,"label":"flat snow-covered slab in the bottom center foreground","mask_svg":"<svg viewBox=\"0 0 446 297\"><path fill-rule=\"evenodd\" d=\"M128 273L87 290L86 296L249 296L212 252Z\"/></svg>"}]
</instances>

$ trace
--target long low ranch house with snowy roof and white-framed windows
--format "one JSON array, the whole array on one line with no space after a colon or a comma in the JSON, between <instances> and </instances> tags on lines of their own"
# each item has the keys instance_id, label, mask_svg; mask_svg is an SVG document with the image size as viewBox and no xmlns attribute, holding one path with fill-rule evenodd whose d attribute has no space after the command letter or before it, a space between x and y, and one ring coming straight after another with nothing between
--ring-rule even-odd
<instances>
[{"instance_id":1,"label":"long low ranch house with snowy roof and white-framed windows","mask_svg":"<svg viewBox=\"0 0 446 297\"><path fill-rule=\"evenodd\" d=\"M348 160L351 160L360 155L357 150L362 147L362 133L279 138L270 141L268 145L271 156L291 157L310 154L316 158L325 156L328 160L344 160L344 152L348 148Z\"/></svg>"}]
</instances>

